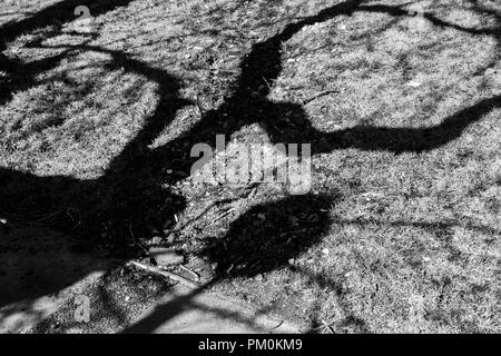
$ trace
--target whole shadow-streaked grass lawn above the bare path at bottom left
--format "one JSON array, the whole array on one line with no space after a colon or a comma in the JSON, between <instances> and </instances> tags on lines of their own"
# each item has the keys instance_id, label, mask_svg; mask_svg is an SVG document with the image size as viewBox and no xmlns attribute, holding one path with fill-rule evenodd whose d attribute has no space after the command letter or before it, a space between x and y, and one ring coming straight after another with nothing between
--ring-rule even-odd
<instances>
[{"instance_id":1,"label":"whole shadow-streaked grass lawn above the bare path at bottom left","mask_svg":"<svg viewBox=\"0 0 501 356\"><path fill-rule=\"evenodd\" d=\"M0 215L157 236L311 332L501 332L499 1L0 10ZM200 186L190 149L218 134L229 164L237 142L311 144L312 191Z\"/></svg>"}]
</instances>

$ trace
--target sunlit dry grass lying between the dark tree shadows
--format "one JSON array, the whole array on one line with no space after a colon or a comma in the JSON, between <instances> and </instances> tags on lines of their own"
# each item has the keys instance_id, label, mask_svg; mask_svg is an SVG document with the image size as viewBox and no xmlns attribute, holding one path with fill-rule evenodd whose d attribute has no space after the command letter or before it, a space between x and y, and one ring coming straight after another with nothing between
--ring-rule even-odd
<instances>
[{"instance_id":1,"label":"sunlit dry grass lying between the dark tree shadows","mask_svg":"<svg viewBox=\"0 0 501 356\"><path fill-rule=\"evenodd\" d=\"M263 270L258 278L236 275L216 288L316 330L326 322L340 333L499 333L499 99L459 137L430 150L364 149L350 129L434 127L499 97L501 8L487 0L478 1L478 8L473 1L415 1L413 7L421 4L433 19L454 24L435 26L387 11L403 2L366 1L352 16L305 26L282 43L282 71L269 83L268 100L299 105L324 90L338 91L303 107L313 128L347 132L347 147L323 149L313 158L315 191L336 192L322 207L330 225L291 265ZM16 37L3 52L11 60L53 61L36 66L42 70L21 68L12 75L22 80L0 107L0 167L38 177L99 180L148 118L161 117L159 102L169 105L160 97L163 76L177 78L179 96L191 103L177 111L150 149L189 135L200 108L217 110L232 96L253 43L332 4L137 0L97 17L99 33L94 37L78 32L71 21ZM30 6L39 7L37 1ZM9 19L0 18L0 23ZM120 65L117 52L151 70L126 60ZM11 88L9 78L0 77L3 90ZM259 123L242 127L233 138L252 141L266 134ZM189 148L179 149L184 157ZM170 185L185 197L186 209L176 215L183 221L220 196L242 192L212 186L199 190L189 177L173 182L168 175L156 184ZM261 226L257 212L281 199L281 187L261 187L252 199L237 199L234 212L216 222L220 211L210 210L174 243L193 254L190 266L208 278L212 260L199 258L206 241L224 238L232 221L246 212L258 225L248 227L250 236L275 234L276 222L265 217ZM73 201L61 201L63 208L72 207ZM175 224L173 216L160 218ZM305 218L298 217L299 226Z\"/></svg>"}]
</instances>

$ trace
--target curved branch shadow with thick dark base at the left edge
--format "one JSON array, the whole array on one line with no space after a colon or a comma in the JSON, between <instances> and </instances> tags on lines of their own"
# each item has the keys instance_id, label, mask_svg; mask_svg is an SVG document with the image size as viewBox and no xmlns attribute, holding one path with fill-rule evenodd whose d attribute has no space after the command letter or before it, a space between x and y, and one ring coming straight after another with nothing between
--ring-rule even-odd
<instances>
[{"instance_id":1,"label":"curved branch shadow with thick dark base at the left edge","mask_svg":"<svg viewBox=\"0 0 501 356\"><path fill-rule=\"evenodd\" d=\"M95 48L98 50L98 48ZM164 206L170 198L183 208L184 199L160 187L159 170L148 167L145 157L147 146L159 135L166 125L175 117L178 109L188 103L178 97L179 81L164 70L128 59L120 52L100 50L112 56L108 69L125 68L139 73L158 83L158 95L163 101L149 117L137 137L129 142L108 166L105 175L98 179L79 180L69 177L37 177L31 174L10 169L0 169L0 181L3 184L0 211L23 216L42 215L43 211L59 211L53 218L59 227L84 228L85 234L98 230L87 227L98 227L92 222L118 221L120 231L125 234L128 224L145 222L148 209ZM138 189L151 189L154 194L138 194ZM144 208L141 210L139 207ZM68 214L70 212L70 214ZM85 214L87 212L87 214ZM90 214L89 214L90 212ZM169 211L163 211L169 214ZM174 211L170 211L174 214ZM141 218L135 218L138 215ZM58 219L59 218L59 219ZM148 220L148 219L146 219ZM95 220L96 221L96 220ZM125 222L128 222L124 225ZM153 221L150 221L153 222ZM109 227L114 230L114 227Z\"/></svg>"}]
</instances>

